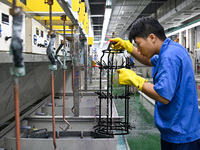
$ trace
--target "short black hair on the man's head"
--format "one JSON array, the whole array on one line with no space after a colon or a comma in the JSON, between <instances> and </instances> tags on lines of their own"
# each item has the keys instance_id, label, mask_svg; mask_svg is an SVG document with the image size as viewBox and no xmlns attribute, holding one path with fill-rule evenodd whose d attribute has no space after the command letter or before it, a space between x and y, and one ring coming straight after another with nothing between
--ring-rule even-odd
<instances>
[{"instance_id":1,"label":"short black hair on the man's head","mask_svg":"<svg viewBox=\"0 0 200 150\"><path fill-rule=\"evenodd\" d=\"M162 41L166 39L164 28L156 19L150 17L139 18L131 26L129 41L132 43L135 37L146 39L151 33Z\"/></svg>"}]
</instances>

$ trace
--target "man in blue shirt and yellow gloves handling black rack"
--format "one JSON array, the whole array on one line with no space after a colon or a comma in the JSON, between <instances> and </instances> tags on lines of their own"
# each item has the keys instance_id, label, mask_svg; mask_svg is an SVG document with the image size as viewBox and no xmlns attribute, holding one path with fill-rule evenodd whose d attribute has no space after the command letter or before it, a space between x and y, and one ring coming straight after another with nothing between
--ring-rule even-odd
<instances>
[{"instance_id":1,"label":"man in blue shirt and yellow gloves handling black rack","mask_svg":"<svg viewBox=\"0 0 200 150\"><path fill-rule=\"evenodd\" d=\"M137 48L132 45L132 40ZM134 85L154 99L154 122L161 133L162 150L200 150L200 116L191 58L185 48L166 38L160 23L137 19L129 41L111 39L113 49L126 49L135 59L154 66L154 84L129 69L119 69L119 83ZM154 55L159 55L154 57Z\"/></svg>"}]
</instances>

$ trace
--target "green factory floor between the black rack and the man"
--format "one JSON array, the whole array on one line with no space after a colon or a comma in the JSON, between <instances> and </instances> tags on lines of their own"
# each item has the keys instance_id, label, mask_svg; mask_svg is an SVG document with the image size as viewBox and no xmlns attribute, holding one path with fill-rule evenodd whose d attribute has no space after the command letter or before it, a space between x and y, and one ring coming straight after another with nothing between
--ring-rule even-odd
<instances>
[{"instance_id":1,"label":"green factory floor between the black rack and the man","mask_svg":"<svg viewBox=\"0 0 200 150\"><path fill-rule=\"evenodd\" d=\"M120 89L115 92L121 91ZM118 113L123 113L121 100L116 100ZM140 104L139 94L133 94L130 99L130 123L133 128L126 139L130 150L160 150L160 133L154 125L153 116Z\"/></svg>"}]
</instances>

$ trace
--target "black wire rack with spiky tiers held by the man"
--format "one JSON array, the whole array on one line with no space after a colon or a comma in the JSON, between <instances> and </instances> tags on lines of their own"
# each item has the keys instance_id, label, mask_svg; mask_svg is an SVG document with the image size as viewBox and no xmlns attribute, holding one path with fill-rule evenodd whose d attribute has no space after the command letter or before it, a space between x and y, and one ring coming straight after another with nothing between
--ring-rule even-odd
<instances>
[{"instance_id":1,"label":"black wire rack with spiky tiers held by the man","mask_svg":"<svg viewBox=\"0 0 200 150\"><path fill-rule=\"evenodd\" d=\"M125 61L118 65L117 62L114 62L114 55L118 55L123 53L123 51L113 50L111 49L111 44L109 44L106 50L103 50L103 55L100 58L100 61L97 62L100 69L100 90L96 92L99 97L99 120L98 125L96 125L95 132L109 135L109 137L114 137L114 135L124 135L128 134L129 130L132 128L129 123L129 100L130 100L130 92L129 86L125 85L125 89L122 94L113 94L113 73L114 70L120 68L128 68L130 69L130 59L126 58ZM103 60L105 54L108 54L107 63ZM107 71L107 90L106 92L102 89L102 72L103 70ZM121 99L124 101L124 118L121 121L113 120L113 104L115 99ZM106 101L106 116L102 116L102 102Z\"/></svg>"}]
</instances>

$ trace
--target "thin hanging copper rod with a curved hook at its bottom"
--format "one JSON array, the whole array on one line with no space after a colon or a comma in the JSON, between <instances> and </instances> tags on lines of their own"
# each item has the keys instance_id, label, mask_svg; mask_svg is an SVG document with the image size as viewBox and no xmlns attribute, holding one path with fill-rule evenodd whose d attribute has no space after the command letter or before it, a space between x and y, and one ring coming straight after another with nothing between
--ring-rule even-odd
<instances>
[{"instance_id":1,"label":"thin hanging copper rod with a curved hook at its bottom","mask_svg":"<svg viewBox=\"0 0 200 150\"><path fill-rule=\"evenodd\" d=\"M64 35L63 35L63 41L61 42L62 44L64 44L64 49L63 49L63 121L66 122L67 127L64 129L62 126L60 126L60 128L63 131L66 131L67 129L69 129L69 122L65 119L65 70L67 69L66 66L66 40L65 40L65 21L66 21L66 15L63 15L61 17L61 19L63 20L63 31L64 31Z\"/></svg>"}]
</instances>

